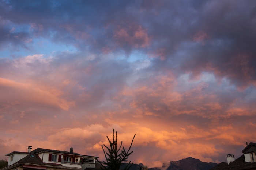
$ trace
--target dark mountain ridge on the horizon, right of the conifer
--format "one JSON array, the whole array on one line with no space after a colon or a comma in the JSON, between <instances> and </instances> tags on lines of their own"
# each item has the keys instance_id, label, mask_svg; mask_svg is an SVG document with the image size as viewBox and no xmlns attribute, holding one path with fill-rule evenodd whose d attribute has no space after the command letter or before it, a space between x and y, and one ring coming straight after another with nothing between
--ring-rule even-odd
<instances>
[{"instance_id":1,"label":"dark mountain ridge on the horizon, right of the conifer","mask_svg":"<svg viewBox=\"0 0 256 170\"><path fill-rule=\"evenodd\" d=\"M126 163L121 166L120 170L124 169ZM162 167L148 168L149 170L209 170L218 165L217 163L202 162L199 159L192 157L181 159L179 161L171 161L169 164L163 163ZM142 163L133 164L130 170L140 170Z\"/></svg>"}]
</instances>

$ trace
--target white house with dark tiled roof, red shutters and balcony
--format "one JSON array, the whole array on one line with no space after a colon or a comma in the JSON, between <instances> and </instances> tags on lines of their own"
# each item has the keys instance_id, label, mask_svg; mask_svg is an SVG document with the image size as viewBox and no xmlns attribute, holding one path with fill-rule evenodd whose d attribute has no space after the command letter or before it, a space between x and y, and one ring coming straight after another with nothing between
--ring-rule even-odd
<instances>
[{"instance_id":1,"label":"white house with dark tiled roof, red shutters and balcony","mask_svg":"<svg viewBox=\"0 0 256 170\"><path fill-rule=\"evenodd\" d=\"M95 167L96 170L98 158L75 153L72 147L70 151L43 148L32 151L31 146L28 152L13 151L5 156L8 157L8 166L0 170L85 170Z\"/></svg>"}]
</instances>

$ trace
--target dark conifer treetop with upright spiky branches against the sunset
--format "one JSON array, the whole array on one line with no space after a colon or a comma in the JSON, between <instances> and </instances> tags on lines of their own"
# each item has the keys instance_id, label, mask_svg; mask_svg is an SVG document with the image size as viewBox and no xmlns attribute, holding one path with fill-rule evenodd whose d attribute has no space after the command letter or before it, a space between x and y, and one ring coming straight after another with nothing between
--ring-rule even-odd
<instances>
[{"instance_id":1,"label":"dark conifer treetop with upright spiky branches against the sunset","mask_svg":"<svg viewBox=\"0 0 256 170\"><path fill-rule=\"evenodd\" d=\"M134 135L133 139L135 138L135 135ZM107 136L107 138L108 138L108 136ZM132 142L133 142L133 139L132 139ZM109 141L109 145L110 145L109 147L106 146L105 144L101 145L104 155L105 155L105 158L106 158L106 161L102 161L99 163L102 165L102 167L103 167L102 169L119 170L122 163L127 162L129 155L131 155L133 153L133 151L130 152L130 149L132 147L132 142L127 151L124 149L124 147L122 147L123 141L121 141L121 145L120 145L120 147L118 147L117 146L117 131L116 131L116 138L115 138L114 129L113 129L113 142L111 142L109 140L109 138L108 138L108 141ZM107 149L107 151L104 150L104 147ZM121 148L123 150L121 150ZM125 166L125 168L123 170L130 169L132 165L133 165L133 163L131 164L131 161L130 161L127 164L127 166Z\"/></svg>"}]
</instances>

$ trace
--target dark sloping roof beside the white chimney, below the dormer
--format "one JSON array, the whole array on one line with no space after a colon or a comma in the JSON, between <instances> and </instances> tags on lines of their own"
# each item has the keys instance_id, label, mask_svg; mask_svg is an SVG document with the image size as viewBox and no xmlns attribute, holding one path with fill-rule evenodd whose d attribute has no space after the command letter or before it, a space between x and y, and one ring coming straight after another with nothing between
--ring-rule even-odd
<instances>
[{"instance_id":1,"label":"dark sloping roof beside the white chimney, below the dormer","mask_svg":"<svg viewBox=\"0 0 256 170\"><path fill-rule=\"evenodd\" d=\"M255 170L256 169L256 163L249 162L245 163L244 154L242 154L241 157L237 158L235 161L230 162L229 165L224 167L222 170Z\"/></svg>"}]
</instances>

